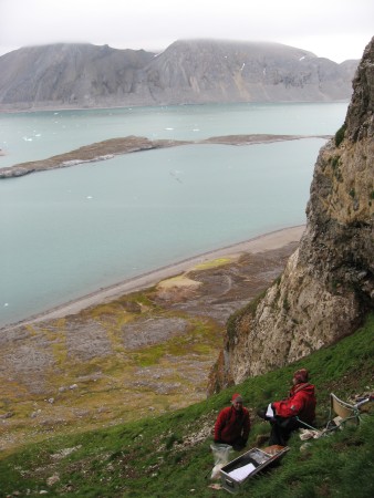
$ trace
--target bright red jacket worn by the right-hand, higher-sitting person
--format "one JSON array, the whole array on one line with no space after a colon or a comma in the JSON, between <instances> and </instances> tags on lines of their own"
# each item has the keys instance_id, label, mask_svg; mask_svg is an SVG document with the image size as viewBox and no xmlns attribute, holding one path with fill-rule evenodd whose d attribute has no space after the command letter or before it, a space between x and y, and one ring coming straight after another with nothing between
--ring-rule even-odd
<instances>
[{"instance_id":1,"label":"bright red jacket worn by the right-hand, higher-sitting person","mask_svg":"<svg viewBox=\"0 0 374 498\"><path fill-rule=\"evenodd\" d=\"M298 416L307 424L312 424L315 418L314 385L302 383L294 385L287 400L272 403L276 414L283 417Z\"/></svg>"}]
</instances>

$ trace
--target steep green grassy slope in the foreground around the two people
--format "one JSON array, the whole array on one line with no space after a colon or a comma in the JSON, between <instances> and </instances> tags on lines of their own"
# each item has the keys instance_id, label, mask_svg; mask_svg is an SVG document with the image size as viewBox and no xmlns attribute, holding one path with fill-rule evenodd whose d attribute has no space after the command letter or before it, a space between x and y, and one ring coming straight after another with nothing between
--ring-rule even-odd
<instances>
[{"instance_id":1,"label":"steep green grassy slope in the foreground around the two people","mask_svg":"<svg viewBox=\"0 0 374 498\"><path fill-rule=\"evenodd\" d=\"M0 497L216 497L229 496L209 488L212 468L211 429L220 408L239 391L256 411L283 397L295 367L310 370L318 392L318 425L329 415L329 393L347 400L373 391L374 314L354 335L323 349L302 362L249 378L164 416L141 419L91 433L63 436L3 456L0 461ZM252 416L249 447L267 423ZM281 465L250 479L237 496L251 497L372 497L374 496L374 407L365 423L333 436L313 440L300 452L298 435ZM54 485L46 480L55 476ZM15 495L17 496L17 495Z\"/></svg>"}]
</instances>

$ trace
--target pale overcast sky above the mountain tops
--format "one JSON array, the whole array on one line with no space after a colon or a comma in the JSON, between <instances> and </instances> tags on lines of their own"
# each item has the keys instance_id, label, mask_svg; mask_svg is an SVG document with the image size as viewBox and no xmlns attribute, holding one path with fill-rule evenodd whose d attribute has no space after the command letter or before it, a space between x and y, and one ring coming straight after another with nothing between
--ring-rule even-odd
<instances>
[{"instance_id":1,"label":"pale overcast sky above the mountain tops","mask_svg":"<svg viewBox=\"0 0 374 498\"><path fill-rule=\"evenodd\" d=\"M361 59L373 0L0 0L0 55L55 42L165 50L180 39L272 41Z\"/></svg>"}]
</instances>

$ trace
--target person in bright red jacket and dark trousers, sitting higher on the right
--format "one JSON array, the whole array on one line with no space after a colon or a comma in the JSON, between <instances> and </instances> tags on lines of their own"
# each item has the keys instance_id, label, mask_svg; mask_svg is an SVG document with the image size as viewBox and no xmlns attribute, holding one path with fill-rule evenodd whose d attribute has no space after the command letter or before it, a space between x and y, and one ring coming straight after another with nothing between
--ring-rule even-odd
<instances>
[{"instance_id":1,"label":"person in bright red jacket and dark trousers, sitting higher on the right","mask_svg":"<svg viewBox=\"0 0 374 498\"><path fill-rule=\"evenodd\" d=\"M287 400L277 401L269 405L267 412L259 411L258 415L271 424L269 445L285 446L292 430L303 427L299 421L312 425L315 418L314 385L309 382L305 369L294 372L292 388Z\"/></svg>"}]
</instances>

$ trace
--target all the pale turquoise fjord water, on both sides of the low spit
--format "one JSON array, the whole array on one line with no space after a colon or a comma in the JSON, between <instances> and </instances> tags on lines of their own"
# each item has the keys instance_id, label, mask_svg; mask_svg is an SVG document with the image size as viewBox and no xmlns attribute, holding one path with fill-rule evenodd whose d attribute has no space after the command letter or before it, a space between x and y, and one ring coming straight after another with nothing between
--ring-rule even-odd
<instances>
[{"instance_id":1,"label":"all the pale turquoise fjord water, on both sides of the low spit","mask_svg":"<svg viewBox=\"0 0 374 498\"><path fill-rule=\"evenodd\" d=\"M117 136L332 135L346 103L0 117L0 167ZM0 181L0 325L153 269L305 222L323 138L186 145Z\"/></svg>"}]
</instances>

